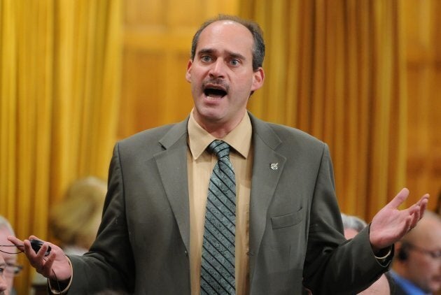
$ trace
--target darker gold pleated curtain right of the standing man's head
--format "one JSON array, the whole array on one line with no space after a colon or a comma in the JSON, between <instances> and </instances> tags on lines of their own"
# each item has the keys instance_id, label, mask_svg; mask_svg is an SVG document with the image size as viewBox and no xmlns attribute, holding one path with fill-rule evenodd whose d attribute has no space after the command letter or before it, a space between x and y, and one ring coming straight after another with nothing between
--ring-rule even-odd
<instances>
[{"instance_id":1,"label":"darker gold pleated curtain right of the standing man's head","mask_svg":"<svg viewBox=\"0 0 441 295\"><path fill-rule=\"evenodd\" d=\"M406 103L396 0L246 0L265 85L249 108L328 143L341 210L371 220L404 185Z\"/></svg>"}]
</instances>

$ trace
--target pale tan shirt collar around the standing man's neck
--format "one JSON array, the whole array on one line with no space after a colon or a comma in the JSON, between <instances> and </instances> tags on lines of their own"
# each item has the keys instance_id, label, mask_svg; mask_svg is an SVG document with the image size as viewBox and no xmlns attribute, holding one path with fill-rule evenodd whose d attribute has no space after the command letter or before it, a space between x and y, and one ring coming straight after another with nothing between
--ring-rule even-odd
<instances>
[{"instance_id":1,"label":"pale tan shirt collar around the standing man's neck","mask_svg":"<svg viewBox=\"0 0 441 295\"><path fill-rule=\"evenodd\" d=\"M215 139L221 139L234 148L241 157L245 159L248 157L248 153L251 147L251 136L253 134L253 127L251 126L251 120L248 112L245 112L241 122L230 131L224 138L215 138L203 129L198 124L193 116L193 110L190 113L190 119L188 120L188 145L193 159L197 159L207 149L207 146Z\"/></svg>"}]
</instances>

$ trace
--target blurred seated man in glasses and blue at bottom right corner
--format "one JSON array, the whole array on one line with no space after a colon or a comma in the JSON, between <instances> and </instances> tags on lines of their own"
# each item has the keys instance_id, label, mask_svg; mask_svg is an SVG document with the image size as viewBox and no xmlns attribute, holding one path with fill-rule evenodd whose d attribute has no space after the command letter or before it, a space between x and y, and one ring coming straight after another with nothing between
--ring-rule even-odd
<instances>
[{"instance_id":1,"label":"blurred seated man in glasses and blue at bottom right corner","mask_svg":"<svg viewBox=\"0 0 441 295\"><path fill-rule=\"evenodd\" d=\"M396 245L392 264L395 294L436 294L441 289L441 217L426 211Z\"/></svg>"}]
</instances>

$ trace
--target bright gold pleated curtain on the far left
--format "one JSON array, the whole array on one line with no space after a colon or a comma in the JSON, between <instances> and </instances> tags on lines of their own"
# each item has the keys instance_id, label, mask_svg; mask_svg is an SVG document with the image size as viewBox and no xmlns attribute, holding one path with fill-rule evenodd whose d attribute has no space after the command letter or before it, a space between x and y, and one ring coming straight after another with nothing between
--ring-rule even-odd
<instances>
[{"instance_id":1,"label":"bright gold pleated curtain on the far left","mask_svg":"<svg viewBox=\"0 0 441 295\"><path fill-rule=\"evenodd\" d=\"M85 175L106 178L116 140L122 3L0 1L0 214L48 238L48 210ZM31 271L15 280L27 294Z\"/></svg>"}]
</instances>

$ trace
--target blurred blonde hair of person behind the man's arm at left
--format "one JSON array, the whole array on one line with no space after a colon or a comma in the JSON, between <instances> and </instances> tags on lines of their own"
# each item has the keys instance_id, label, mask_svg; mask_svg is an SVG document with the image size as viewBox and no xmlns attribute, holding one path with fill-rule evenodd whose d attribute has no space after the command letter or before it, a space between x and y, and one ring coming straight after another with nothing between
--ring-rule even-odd
<instances>
[{"instance_id":1,"label":"blurred blonde hair of person behind the man's arm at left","mask_svg":"<svg viewBox=\"0 0 441 295\"><path fill-rule=\"evenodd\" d=\"M69 254L87 252L101 222L107 184L89 176L73 182L64 199L50 210L50 230Z\"/></svg>"}]
</instances>

